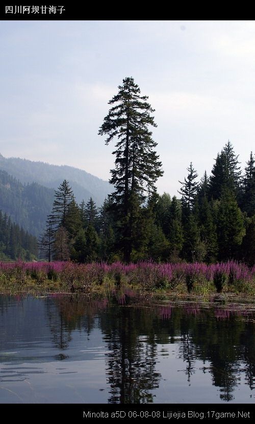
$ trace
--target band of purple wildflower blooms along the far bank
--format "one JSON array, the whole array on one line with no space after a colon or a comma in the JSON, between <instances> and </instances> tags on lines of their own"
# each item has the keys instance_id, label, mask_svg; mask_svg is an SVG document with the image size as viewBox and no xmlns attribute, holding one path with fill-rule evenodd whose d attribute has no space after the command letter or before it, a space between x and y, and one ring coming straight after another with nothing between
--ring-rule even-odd
<instances>
[{"instance_id":1,"label":"band of purple wildflower blooms along the far bank","mask_svg":"<svg viewBox=\"0 0 255 424\"><path fill-rule=\"evenodd\" d=\"M228 261L225 263L155 263L141 261L123 264L114 262L74 263L74 262L0 262L0 277L24 283L26 278L37 281L61 281L68 287L77 286L89 290L92 284L101 285L106 279L118 286L122 283L152 291L157 288L174 289L180 283L187 285L190 292L195 285L214 283L220 293L228 285L243 291L245 284L254 286L255 266Z\"/></svg>"}]
</instances>

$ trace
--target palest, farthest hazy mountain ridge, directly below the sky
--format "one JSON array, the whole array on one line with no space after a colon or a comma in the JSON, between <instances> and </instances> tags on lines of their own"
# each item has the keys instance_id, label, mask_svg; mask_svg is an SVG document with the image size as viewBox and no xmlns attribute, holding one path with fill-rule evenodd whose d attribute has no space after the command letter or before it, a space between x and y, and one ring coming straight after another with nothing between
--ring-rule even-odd
<instances>
[{"instance_id":1,"label":"palest, farthest hazy mountain ridge, directly below the sky","mask_svg":"<svg viewBox=\"0 0 255 424\"><path fill-rule=\"evenodd\" d=\"M41 186L56 190L64 179L69 181L78 203L92 197L100 206L112 190L109 182L97 178L82 169L67 165L49 165L19 157L4 157L0 153L0 170L17 178L22 184L37 182Z\"/></svg>"}]
</instances>

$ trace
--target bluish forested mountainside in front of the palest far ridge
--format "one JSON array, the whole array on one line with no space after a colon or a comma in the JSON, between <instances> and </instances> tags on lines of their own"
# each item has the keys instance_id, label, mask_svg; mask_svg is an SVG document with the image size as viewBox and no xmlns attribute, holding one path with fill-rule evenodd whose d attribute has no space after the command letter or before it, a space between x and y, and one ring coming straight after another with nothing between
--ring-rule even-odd
<instances>
[{"instance_id":1,"label":"bluish forested mountainside in front of the palest far ridge","mask_svg":"<svg viewBox=\"0 0 255 424\"><path fill-rule=\"evenodd\" d=\"M37 182L21 184L0 169L0 209L25 231L39 236L52 210L54 190Z\"/></svg>"}]
</instances>

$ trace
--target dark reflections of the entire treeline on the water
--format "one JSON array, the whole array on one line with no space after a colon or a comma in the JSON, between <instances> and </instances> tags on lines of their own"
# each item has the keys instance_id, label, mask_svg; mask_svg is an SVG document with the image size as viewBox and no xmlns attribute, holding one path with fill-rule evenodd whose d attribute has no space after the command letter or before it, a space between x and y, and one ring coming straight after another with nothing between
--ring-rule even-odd
<instances>
[{"instance_id":1,"label":"dark reflections of the entire treeline on the water","mask_svg":"<svg viewBox=\"0 0 255 424\"><path fill-rule=\"evenodd\" d=\"M202 360L203 372L211 374L212 384L219 387L223 401L234 399L242 373L246 384L251 390L254 388L254 320L245 308L205 308L190 302L181 306L177 302L162 305L142 302L141 298L131 301L129 296L118 298L121 305L116 299L73 295L53 299L59 315L53 313L52 299L48 301L47 313L58 349L67 349L75 329L89 335L95 320L102 331L108 349L109 403L153 402L164 378L157 371L158 345L176 342L179 357L186 363L188 384L197 370L196 360Z\"/></svg>"}]
</instances>

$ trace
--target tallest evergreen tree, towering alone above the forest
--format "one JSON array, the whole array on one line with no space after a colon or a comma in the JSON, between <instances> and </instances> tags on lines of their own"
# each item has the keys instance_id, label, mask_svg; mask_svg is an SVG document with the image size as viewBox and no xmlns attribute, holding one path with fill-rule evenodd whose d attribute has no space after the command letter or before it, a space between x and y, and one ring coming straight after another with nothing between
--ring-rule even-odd
<instances>
[{"instance_id":1,"label":"tallest evergreen tree, towering alone above the forest","mask_svg":"<svg viewBox=\"0 0 255 424\"><path fill-rule=\"evenodd\" d=\"M151 138L148 125L156 126L147 96L140 95L134 78L127 77L119 92L110 101L113 104L99 135L108 135L106 144L117 138L115 169L111 180L115 192L111 195L115 213L120 221L120 247L124 261L129 262L134 247L134 229L139 223L137 211L145 199L145 193L155 192L155 182L163 175L157 143Z\"/></svg>"}]
</instances>

